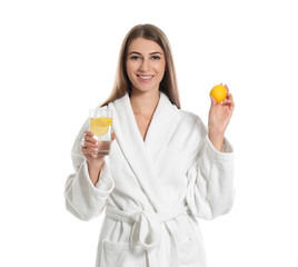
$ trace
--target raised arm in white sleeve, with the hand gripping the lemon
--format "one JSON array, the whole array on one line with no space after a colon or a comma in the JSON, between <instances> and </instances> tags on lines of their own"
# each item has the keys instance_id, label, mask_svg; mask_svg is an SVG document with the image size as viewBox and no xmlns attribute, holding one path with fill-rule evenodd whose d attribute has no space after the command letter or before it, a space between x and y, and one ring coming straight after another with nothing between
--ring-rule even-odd
<instances>
[{"instance_id":1,"label":"raised arm in white sleeve, with the hand gripping the lemon","mask_svg":"<svg viewBox=\"0 0 298 267\"><path fill-rule=\"evenodd\" d=\"M193 215L206 219L228 212L234 202L234 154L225 139L225 131L235 103L227 86L226 88L227 99L224 102L217 103L211 98L208 134L202 123L198 126L205 138L195 164L187 174L188 205Z\"/></svg>"}]
</instances>

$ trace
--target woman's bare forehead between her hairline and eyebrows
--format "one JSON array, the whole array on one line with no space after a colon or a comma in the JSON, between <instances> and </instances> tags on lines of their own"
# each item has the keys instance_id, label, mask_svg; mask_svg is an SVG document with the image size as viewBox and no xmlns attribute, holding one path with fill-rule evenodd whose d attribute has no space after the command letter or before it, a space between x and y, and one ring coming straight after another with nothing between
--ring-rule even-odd
<instances>
[{"instance_id":1,"label":"woman's bare forehead between her hairline and eyebrows","mask_svg":"<svg viewBox=\"0 0 298 267\"><path fill-rule=\"evenodd\" d=\"M151 53L151 52L161 52L163 53L162 48L155 41L145 39L145 38L137 38L131 41L128 47L128 52L140 52L140 53Z\"/></svg>"}]
</instances>

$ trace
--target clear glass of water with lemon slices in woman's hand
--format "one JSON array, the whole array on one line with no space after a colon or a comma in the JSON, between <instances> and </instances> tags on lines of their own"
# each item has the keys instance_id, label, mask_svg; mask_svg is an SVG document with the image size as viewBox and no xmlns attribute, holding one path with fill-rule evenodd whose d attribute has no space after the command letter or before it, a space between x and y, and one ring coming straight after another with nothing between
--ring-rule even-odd
<instances>
[{"instance_id":1,"label":"clear glass of water with lemon slices in woman's hand","mask_svg":"<svg viewBox=\"0 0 298 267\"><path fill-rule=\"evenodd\" d=\"M112 110L107 108L90 109L89 129L93 132L93 138L99 142L97 155L109 155L112 134Z\"/></svg>"}]
</instances>

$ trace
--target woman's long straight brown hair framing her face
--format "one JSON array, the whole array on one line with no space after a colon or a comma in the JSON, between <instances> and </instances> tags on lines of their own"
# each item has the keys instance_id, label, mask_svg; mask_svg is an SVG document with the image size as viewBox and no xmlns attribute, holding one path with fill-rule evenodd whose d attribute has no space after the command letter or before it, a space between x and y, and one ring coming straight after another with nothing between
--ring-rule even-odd
<instances>
[{"instance_id":1,"label":"woman's long straight brown hair framing her face","mask_svg":"<svg viewBox=\"0 0 298 267\"><path fill-rule=\"evenodd\" d=\"M135 26L127 33L119 53L113 89L110 97L101 105L101 107L115 101L118 98L123 97L127 92L129 95L131 93L131 82L127 76L126 59L130 43L139 37L155 41L165 51L166 72L163 79L160 82L159 90L166 93L169 100L180 109L180 98L170 43L166 34L159 28L152 24Z\"/></svg>"}]
</instances>

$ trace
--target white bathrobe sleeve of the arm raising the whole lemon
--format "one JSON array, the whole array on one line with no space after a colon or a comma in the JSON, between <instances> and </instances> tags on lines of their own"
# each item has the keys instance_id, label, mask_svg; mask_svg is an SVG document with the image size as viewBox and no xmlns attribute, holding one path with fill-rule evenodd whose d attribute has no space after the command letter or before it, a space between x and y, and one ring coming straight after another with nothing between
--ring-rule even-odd
<instances>
[{"instance_id":1,"label":"white bathrobe sleeve of the arm raising the whole lemon","mask_svg":"<svg viewBox=\"0 0 298 267\"><path fill-rule=\"evenodd\" d=\"M187 202L195 216L213 219L232 207L234 151L226 138L222 151L216 150L200 120L195 131L199 141L198 151L187 171Z\"/></svg>"}]
</instances>

